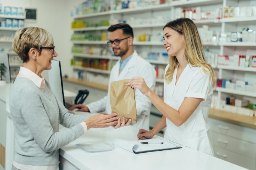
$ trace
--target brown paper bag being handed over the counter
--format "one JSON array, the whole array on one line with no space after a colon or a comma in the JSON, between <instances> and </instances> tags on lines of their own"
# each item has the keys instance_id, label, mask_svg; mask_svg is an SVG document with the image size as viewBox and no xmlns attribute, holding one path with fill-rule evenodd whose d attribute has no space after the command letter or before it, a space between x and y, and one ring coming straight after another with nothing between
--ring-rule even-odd
<instances>
[{"instance_id":1,"label":"brown paper bag being handed over the counter","mask_svg":"<svg viewBox=\"0 0 256 170\"><path fill-rule=\"evenodd\" d=\"M117 113L121 123L125 117L125 123L132 119L131 123L137 123L137 111L135 103L134 89L127 86L129 79L112 81L110 83L110 105L112 112ZM117 125L115 123L114 125Z\"/></svg>"}]
</instances>

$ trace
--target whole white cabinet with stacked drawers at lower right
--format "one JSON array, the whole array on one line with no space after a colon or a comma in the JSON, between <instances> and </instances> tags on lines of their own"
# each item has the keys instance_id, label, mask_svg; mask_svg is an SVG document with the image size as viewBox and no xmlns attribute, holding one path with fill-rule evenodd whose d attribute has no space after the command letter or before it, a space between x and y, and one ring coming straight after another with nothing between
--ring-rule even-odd
<instances>
[{"instance_id":1,"label":"whole white cabinet with stacked drawers at lower right","mask_svg":"<svg viewBox=\"0 0 256 170\"><path fill-rule=\"evenodd\" d=\"M208 119L215 157L255 170L256 129Z\"/></svg>"}]
</instances>

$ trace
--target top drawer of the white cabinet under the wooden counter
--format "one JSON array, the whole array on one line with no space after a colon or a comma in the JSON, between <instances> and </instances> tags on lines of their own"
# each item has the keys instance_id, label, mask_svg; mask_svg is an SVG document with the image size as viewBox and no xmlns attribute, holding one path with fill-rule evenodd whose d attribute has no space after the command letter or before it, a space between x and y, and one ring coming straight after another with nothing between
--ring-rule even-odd
<instances>
[{"instance_id":1,"label":"top drawer of the white cabinet under the wooden counter","mask_svg":"<svg viewBox=\"0 0 256 170\"><path fill-rule=\"evenodd\" d=\"M211 131L220 132L256 144L256 129L212 118L208 118L208 125L210 126Z\"/></svg>"}]
</instances>

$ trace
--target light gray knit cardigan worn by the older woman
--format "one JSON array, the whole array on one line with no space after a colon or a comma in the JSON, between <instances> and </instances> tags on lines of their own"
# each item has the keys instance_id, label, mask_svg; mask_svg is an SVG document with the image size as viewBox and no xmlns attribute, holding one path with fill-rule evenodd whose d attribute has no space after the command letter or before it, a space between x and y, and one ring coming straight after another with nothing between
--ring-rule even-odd
<instances>
[{"instance_id":1,"label":"light gray knit cardigan worn by the older woman","mask_svg":"<svg viewBox=\"0 0 256 170\"><path fill-rule=\"evenodd\" d=\"M59 163L59 148L84 134L80 124L88 116L72 115L56 99L48 82L40 89L31 80L17 76L10 94L10 112L15 130L14 160L45 166ZM59 124L68 130L59 132Z\"/></svg>"}]
</instances>

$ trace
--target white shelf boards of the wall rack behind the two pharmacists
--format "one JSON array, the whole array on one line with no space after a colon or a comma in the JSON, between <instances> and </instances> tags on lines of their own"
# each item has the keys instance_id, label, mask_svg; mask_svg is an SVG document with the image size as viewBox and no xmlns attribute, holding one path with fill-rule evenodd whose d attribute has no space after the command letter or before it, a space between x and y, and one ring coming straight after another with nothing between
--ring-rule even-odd
<instances>
[{"instance_id":1,"label":"white shelf boards of the wall rack behind the two pharmacists","mask_svg":"<svg viewBox=\"0 0 256 170\"><path fill-rule=\"evenodd\" d=\"M174 19L174 11L176 7L182 7L184 9L201 6L203 11L211 11L215 8L222 8L225 6L248 6L251 5L251 0L238 1L238 0L189 0L189 1L171 1L169 4L161 4L157 6L140 7L136 9L123 9L117 11L107 11L95 14L80 15L73 18L74 21L85 20L85 21L99 21L100 19L110 20L110 19L128 19L131 17L137 17L138 14L141 18L151 18L155 16L169 16L169 20ZM252 27L256 26L256 17L244 17L244 18L223 18L223 19L210 19L210 20L196 20L195 23L198 27L203 24L209 26L210 30L220 31L222 33L228 31L241 31L242 27ZM134 30L134 36L141 33L154 34L162 31L164 24L144 24L144 25L131 25ZM106 32L107 26L96 27L96 28L79 28L73 29L74 33L92 33L91 31L98 31L98 33ZM73 41L74 45L97 45L97 46L107 46L107 41ZM148 51L148 52L164 52L165 49L162 46L162 42L141 42L136 41L134 38L134 49L138 52ZM208 46L210 51L220 55L230 55L233 54L247 54L248 50L251 53L256 54L256 43L247 42L203 42L204 46ZM74 57L86 57L86 58L99 58L99 59L109 59L115 60L116 58L110 56L98 56L98 55L85 55L85 54L73 54ZM152 64L167 65L167 61L157 61L148 60ZM229 67L229 66L213 66L215 72L218 73L219 79L235 77L240 80L247 80L247 77L254 77L256 79L256 69L252 67ZM78 69L74 67L74 69ZM81 68L80 68L81 69ZM104 71L98 71L103 73ZM157 83L163 83L162 79L157 79ZM238 93L234 90L217 89L214 92L218 96L218 103L221 99L226 96L238 95L252 97L256 100L256 94ZM220 108L220 105L217 105Z\"/></svg>"}]
</instances>

